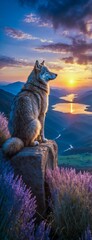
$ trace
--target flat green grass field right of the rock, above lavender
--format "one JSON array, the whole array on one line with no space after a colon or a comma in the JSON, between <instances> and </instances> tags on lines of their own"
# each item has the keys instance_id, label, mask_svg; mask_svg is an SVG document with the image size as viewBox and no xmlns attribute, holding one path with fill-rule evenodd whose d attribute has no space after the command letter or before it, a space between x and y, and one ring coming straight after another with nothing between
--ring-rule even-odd
<instances>
[{"instance_id":1,"label":"flat green grass field right of the rock, above lavender","mask_svg":"<svg viewBox=\"0 0 92 240\"><path fill-rule=\"evenodd\" d=\"M65 167L92 171L92 153L59 156L58 164Z\"/></svg>"}]
</instances>

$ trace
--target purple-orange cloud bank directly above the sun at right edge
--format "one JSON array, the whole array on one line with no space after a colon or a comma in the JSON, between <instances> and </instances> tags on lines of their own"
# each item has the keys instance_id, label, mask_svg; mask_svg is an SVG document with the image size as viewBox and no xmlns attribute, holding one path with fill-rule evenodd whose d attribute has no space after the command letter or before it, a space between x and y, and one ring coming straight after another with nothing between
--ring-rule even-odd
<instances>
[{"instance_id":1,"label":"purple-orange cloud bank directly above the sun at right edge","mask_svg":"<svg viewBox=\"0 0 92 240\"><path fill-rule=\"evenodd\" d=\"M66 43L53 43L42 45L41 47L36 48L38 51L49 51L53 53L65 53L68 56L61 58L65 63L74 62L78 64L88 64L92 63L92 43L88 43L82 39L72 39L71 44Z\"/></svg>"}]
</instances>

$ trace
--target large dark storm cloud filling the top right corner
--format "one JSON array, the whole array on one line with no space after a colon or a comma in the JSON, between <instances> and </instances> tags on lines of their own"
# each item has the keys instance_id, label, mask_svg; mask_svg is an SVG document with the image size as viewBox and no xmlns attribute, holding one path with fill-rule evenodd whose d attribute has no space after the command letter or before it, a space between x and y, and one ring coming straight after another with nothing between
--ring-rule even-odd
<instances>
[{"instance_id":1,"label":"large dark storm cloud filling the top right corner","mask_svg":"<svg viewBox=\"0 0 92 240\"><path fill-rule=\"evenodd\" d=\"M45 22L51 21L55 28L64 26L87 32L86 22L92 18L92 0L19 0L31 11L39 14Z\"/></svg>"}]
</instances>

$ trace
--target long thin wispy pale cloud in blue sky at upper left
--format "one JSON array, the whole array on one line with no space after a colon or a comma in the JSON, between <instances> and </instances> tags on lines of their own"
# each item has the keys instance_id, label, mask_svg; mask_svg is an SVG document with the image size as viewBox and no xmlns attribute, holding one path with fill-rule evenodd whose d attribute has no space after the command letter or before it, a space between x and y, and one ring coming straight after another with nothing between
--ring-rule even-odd
<instances>
[{"instance_id":1,"label":"long thin wispy pale cloud in blue sky at upper left","mask_svg":"<svg viewBox=\"0 0 92 240\"><path fill-rule=\"evenodd\" d=\"M16 30L14 28L5 28L5 32L7 34L7 36L11 37L11 38L15 38L17 40L39 40L40 42L48 42L51 43L51 40L47 40L44 38L39 38L39 37L34 37L31 34L28 33L24 33L20 30Z\"/></svg>"}]
</instances>

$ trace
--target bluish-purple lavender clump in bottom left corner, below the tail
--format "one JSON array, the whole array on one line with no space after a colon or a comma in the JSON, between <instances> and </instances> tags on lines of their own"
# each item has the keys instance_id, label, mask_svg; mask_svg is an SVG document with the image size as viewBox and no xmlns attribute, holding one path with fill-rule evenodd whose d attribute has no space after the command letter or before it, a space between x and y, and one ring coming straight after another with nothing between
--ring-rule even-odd
<instances>
[{"instance_id":1,"label":"bluish-purple lavender clump in bottom left corner, below the tail","mask_svg":"<svg viewBox=\"0 0 92 240\"><path fill-rule=\"evenodd\" d=\"M0 160L0 239L49 240L45 223L36 226L35 213L36 198L31 190L22 178L14 178L8 162Z\"/></svg>"}]
</instances>

